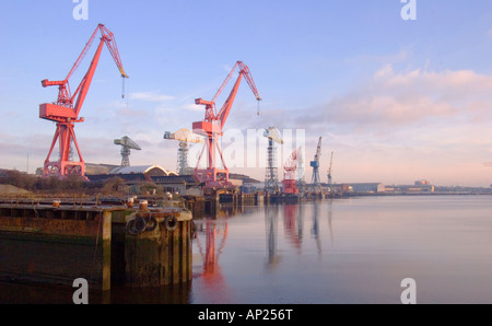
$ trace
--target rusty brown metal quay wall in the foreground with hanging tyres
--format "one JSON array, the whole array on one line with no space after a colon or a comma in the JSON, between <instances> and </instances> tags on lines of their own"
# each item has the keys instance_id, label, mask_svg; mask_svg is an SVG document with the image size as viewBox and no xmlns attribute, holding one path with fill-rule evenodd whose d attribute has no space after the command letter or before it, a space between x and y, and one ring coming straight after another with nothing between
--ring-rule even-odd
<instances>
[{"instance_id":1,"label":"rusty brown metal quay wall in the foreground with hanging tyres","mask_svg":"<svg viewBox=\"0 0 492 326\"><path fill-rule=\"evenodd\" d=\"M0 203L0 278L68 284L83 277L103 289L118 278L138 287L190 280L192 214L186 208L54 203ZM124 224L129 216L159 223L131 236ZM175 230L166 230L167 217L178 221Z\"/></svg>"}]
</instances>

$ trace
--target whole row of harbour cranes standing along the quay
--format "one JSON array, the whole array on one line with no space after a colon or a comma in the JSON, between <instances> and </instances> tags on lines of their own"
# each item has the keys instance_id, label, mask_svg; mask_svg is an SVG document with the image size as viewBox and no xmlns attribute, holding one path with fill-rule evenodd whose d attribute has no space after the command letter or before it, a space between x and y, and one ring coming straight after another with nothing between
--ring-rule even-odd
<instances>
[{"instance_id":1,"label":"whole row of harbour cranes standing along the quay","mask_svg":"<svg viewBox=\"0 0 492 326\"><path fill-rule=\"evenodd\" d=\"M74 72L83 61L98 33L101 33L101 39L94 57L89 66L87 71L85 72L85 75L82 78L82 81L72 93L70 89L70 79L73 77ZM97 68L97 63L104 45L106 45L106 47L108 48L109 54L112 55L116 67L120 72L122 81L125 82L125 79L128 78L128 74L125 72L118 47L116 45L115 35L103 24L97 25L89 42L84 46L82 53L79 55L75 63L63 80L50 81L48 79L45 79L42 81L42 85L44 88L58 86L57 100L52 103L40 104L39 106L39 118L55 121L57 126L48 155L44 163L44 177L57 176L63 178L69 175L77 175L86 178L85 162L75 138L74 124L84 121L84 118L80 117L80 113L85 97L87 96L87 92ZM227 83L233 79L233 75L236 71L238 72L238 75L235 80L235 83L225 102L222 104L220 109L218 109L215 102L218 101L219 95L224 91ZM191 124L192 131L186 128L181 128L173 133L169 131L166 131L164 133L164 139L179 141L177 155L178 173L180 175L191 174L194 176L194 179L198 184L201 184L203 186L204 191L235 188L233 183L230 182L230 171L222 153L220 138L223 136L224 125L231 113L243 78L248 83L256 101L259 103L261 101L261 97L256 88L249 67L243 61L236 61L235 66L230 71L230 73L216 91L215 95L210 101L206 101L201 97L195 100L196 105L204 106L204 117L202 120ZM125 98L125 84L122 86L121 97ZM257 114L260 114L259 106ZM298 188L295 179L295 170L298 167L298 165L302 164L302 162L300 164L300 160L302 160L301 148L296 149L285 162L283 166L284 179L282 181L282 183L279 183L276 143L282 144L283 140L279 130L274 127L268 127L267 129L265 129L263 136L268 139L265 191L279 193L280 187L283 187L284 194L298 194ZM56 160L51 160L51 155L57 143L59 149L59 158ZM141 150L140 145L138 145L128 136L125 136L120 139L115 139L114 143L117 145L121 145L121 166L130 166L130 150ZM203 144L195 168L190 167L188 163L188 150L190 143ZM77 150L77 158L73 158L73 145ZM204 168L200 168L200 161L204 152L207 153L207 165ZM219 159L216 158L218 153L220 156ZM312 193L320 193L320 154L321 137L319 137L315 159L311 162L311 166L313 167ZM222 167L218 167L218 163L221 163ZM328 175L330 179L330 172L328 173Z\"/></svg>"}]
</instances>

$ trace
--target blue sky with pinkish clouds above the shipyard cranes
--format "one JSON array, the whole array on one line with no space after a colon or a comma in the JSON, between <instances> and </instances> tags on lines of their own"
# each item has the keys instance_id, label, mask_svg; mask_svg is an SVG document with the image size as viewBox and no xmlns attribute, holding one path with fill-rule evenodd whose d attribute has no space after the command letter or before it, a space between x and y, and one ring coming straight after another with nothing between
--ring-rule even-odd
<instances>
[{"instance_id":1,"label":"blue sky with pinkish clouds above the shipyard cranes","mask_svg":"<svg viewBox=\"0 0 492 326\"><path fill-rule=\"evenodd\" d=\"M103 23L129 79L121 98L119 72L103 49L80 114L85 121L75 126L85 162L118 165L113 141L128 136L142 148L131 165L176 170L178 143L164 131L203 119L195 98L211 100L241 60L262 101L258 115L241 84L222 143L233 173L265 178L265 143L258 140L257 162L247 164L251 149L233 151L243 143L231 135L246 143L247 130L274 126L288 139L304 132L280 149L279 165L303 144L307 182L321 137L321 182L333 152L336 183L492 184L484 165L492 162L490 1L415 0L415 20L402 19L400 0L85 1L86 20L75 20L72 0L0 2L0 167L43 166L56 125L38 107L58 92L40 81L65 79ZM72 90L95 48L70 79ZM197 152L194 145L195 162Z\"/></svg>"}]
</instances>

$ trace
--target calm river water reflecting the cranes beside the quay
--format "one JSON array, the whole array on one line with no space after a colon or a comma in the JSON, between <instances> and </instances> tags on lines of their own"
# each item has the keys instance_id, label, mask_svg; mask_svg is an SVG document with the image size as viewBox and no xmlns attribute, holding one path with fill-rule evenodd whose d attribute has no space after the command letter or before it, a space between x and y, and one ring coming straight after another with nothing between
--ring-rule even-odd
<instances>
[{"instance_id":1,"label":"calm river water reflecting the cranes beside the quay","mask_svg":"<svg viewBox=\"0 0 492 326\"><path fill-rule=\"evenodd\" d=\"M383 196L224 209L195 219L192 281L95 303L492 303L491 196ZM70 291L1 286L2 303ZM8 294L5 294L8 293ZM91 303L90 302L90 303Z\"/></svg>"}]
</instances>

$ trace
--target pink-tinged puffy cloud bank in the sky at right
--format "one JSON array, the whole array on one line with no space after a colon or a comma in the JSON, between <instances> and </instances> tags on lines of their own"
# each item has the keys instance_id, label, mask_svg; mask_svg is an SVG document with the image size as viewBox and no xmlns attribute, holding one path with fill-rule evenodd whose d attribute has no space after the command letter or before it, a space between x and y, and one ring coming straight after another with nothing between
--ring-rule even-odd
<instances>
[{"instance_id":1,"label":"pink-tinged puffy cloud bank in the sky at right","mask_svg":"<svg viewBox=\"0 0 492 326\"><path fill-rule=\"evenodd\" d=\"M395 72L390 65L342 96L303 110L305 127L345 132L410 128L421 124L491 120L492 77L470 70Z\"/></svg>"}]
</instances>

